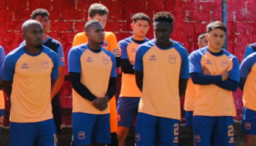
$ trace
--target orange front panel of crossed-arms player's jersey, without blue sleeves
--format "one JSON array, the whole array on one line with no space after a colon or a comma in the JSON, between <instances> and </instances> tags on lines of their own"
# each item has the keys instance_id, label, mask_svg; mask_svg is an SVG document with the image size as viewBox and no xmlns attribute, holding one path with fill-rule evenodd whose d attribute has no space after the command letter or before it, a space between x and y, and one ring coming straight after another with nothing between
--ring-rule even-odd
<instances>
[{"instance_id":1,"label":"orange front panel of crossed-arms player's jersey, without blue sleeves","mask_svg":"<svg viewBox=\"0 0 256 146\"><path fill-rule=\"evenodd\" d=\"M207 52L202 56L202 69L208 69L211 75L221 75L233 68L232 58L220 57ZM194 116L236 116L232 91L217 85L199 85L196 93Z\"/></svg>"}]
</instances>

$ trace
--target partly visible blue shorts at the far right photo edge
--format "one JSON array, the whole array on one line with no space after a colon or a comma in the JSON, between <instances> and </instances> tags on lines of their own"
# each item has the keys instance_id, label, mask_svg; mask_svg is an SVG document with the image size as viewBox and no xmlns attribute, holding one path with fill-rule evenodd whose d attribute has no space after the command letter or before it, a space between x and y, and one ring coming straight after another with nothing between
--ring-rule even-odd
<instances>
[{"instance_id":1,"label":"partly visible blue shorts at the far right photo edge","mask_svg":"<svg viewBox=\"0 0 256 146\"><path fill-rule=\"evenodd\" d=\"M256 111L243 108L242 132L247 135L256 135Z\"/></svg>"}]
</instances>

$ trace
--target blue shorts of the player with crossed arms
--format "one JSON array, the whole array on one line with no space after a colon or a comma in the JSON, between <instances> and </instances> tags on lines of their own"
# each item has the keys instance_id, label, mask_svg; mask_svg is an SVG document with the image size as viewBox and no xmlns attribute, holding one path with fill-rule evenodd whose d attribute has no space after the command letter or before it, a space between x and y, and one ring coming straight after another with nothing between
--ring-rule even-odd
<instances>
[{"instance_id":1,"label":"blue shorts of the player with crossed arms","mask_svg":"<svg viewBox=\"0 0 256 146\"><path fill-rule=\"evenodd\" d=\"M193 117L195 146L234 146L233 117Z\"/></svg>"}]
</instances>

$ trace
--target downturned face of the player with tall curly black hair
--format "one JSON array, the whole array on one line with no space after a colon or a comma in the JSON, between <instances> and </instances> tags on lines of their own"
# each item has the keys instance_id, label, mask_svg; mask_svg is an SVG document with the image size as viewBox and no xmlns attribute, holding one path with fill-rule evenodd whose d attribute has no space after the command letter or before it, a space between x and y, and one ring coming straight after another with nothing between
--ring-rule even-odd
<instances>
[{"instance_id":1,"label":"downturned face of the player with tall curly black hair","mask_svg":"<svg viewBox=\"0 0 256 146\"><path fill-rule=\"evenodd\" d=\"M172 24L167 22L158 21L154 23L154 36L157 42L165 43L169 41L172 33Z\"/></svg>"}]
</instances>

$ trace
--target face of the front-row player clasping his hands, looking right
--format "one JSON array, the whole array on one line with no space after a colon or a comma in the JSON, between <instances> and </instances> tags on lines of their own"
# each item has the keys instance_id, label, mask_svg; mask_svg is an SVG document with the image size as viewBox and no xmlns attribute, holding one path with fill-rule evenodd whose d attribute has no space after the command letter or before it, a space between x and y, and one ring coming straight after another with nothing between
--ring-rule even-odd
<instances>
[{"instance_id":1,"label":"face of the front-row player clasping his hands, looking right","mask_svg":"<svg viewBox=\"0 0 256 146\"><path fill-rule=\"evenodd\" d=\"M87 36L89 41L93 41L94 43L103 44L104 43L104 28L101 24L93 24L88 27Z\"/></svg>"}]
</instances>

